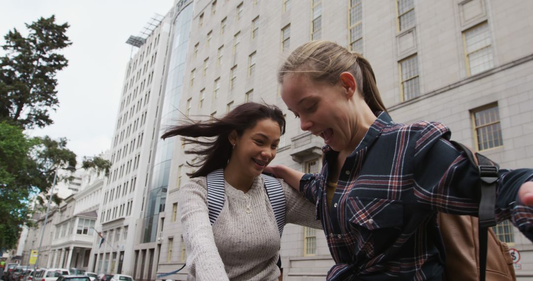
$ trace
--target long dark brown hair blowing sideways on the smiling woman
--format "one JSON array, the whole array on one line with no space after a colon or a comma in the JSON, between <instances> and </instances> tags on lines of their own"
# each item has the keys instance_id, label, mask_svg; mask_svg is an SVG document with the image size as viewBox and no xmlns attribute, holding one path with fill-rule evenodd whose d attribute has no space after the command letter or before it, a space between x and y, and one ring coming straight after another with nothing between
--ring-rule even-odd
<instances>
[{"instance_id":1,"label":"long dark brown hair blowing sideways on the smiling woman","mask_svg":"<svg viewBox=\"0 0 533 281\"><path fill-rule=\"evenodd\" d=\"M185 144L200 145L195 150L186 150L185 154L196 154L200 159L196 163L187 162L189 166L200 167L197 171L187 173L187 175L191 178L203 177L227 166L232 150L228 137L233 130L237 131L237 135L242 136L246 129L254 127L258 121L264 119L277 122L281 135L285 134L285 118L277 106L249 102L238 105L220 119L188 120L184 125L169 128L161 138L183 136ZM194 139L197 137L214 139Z\"/></svg>"}]
</instances>

